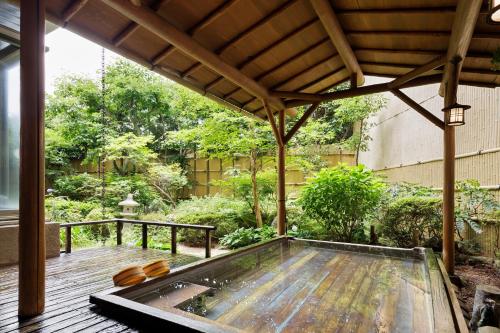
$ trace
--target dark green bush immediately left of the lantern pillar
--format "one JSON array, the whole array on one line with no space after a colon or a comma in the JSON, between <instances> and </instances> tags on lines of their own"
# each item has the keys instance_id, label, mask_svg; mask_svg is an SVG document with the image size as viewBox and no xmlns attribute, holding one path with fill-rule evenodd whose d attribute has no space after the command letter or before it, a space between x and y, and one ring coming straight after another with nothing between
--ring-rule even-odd
<instances>
[{"instance_id":1,"label":"dark green bush immediately left of the lantern pillar","mask_svg":"<svg viewBox=\"0 0 500 333\"><path fill-rule=\"evenodd\" d=\"M442 200L436 197L403 197L391 202L381 221L382 241L399 247L436 246L441 241Z\"/></svg>"}]
</instances>

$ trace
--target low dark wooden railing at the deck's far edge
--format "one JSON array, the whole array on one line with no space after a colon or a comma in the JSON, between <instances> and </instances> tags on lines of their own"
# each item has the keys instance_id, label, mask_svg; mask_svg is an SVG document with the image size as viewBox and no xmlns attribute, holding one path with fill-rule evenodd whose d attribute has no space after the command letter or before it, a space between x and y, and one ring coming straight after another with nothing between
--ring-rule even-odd
<instances>
[{"instance_id":1,"label":"low dark wooden railing at the deck's far edge","mask_svg":"<svg viewBox=\"0 0 500 333\"><path fill-rule=\"evenodd\" d=\"M140 224L142 226L142 248L148 248L148 226L157 227L168 227L171 231L170 236L170 251L172 253L177 253L177 229L196 229L205 231L205 258L210 258L211 248L212 248L212 235L210 232L215 231L216 227L211 225L197 225L197 224L179 224L171 222L159 222L159 221L141 221L141 220L128 220L128 219L110 219L110 220L100 220L100 221L85 221L85 222L72 222L72 223L62 223L61 228L66 229L66 244L65 253L71 253L71 228L79 226L87 226L94 224L107 224L116 223L116 245L122 244L122 229L124 223L130 224Z\"/></svg>"}]
</instances>

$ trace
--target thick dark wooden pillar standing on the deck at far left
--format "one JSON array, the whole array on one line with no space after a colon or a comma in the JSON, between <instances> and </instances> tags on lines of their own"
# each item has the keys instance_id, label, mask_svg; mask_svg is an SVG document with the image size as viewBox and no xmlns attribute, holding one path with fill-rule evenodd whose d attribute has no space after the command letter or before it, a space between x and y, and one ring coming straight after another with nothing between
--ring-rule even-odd
<instances>
[{"instance_id":1,"label":"thick dark wooden pillar standing on the deck at far left","mask_svg":"<svg viewBox=\"0 0 500 333\"><path fill-rule=\"evenodd\" d=\"M21 147L19 183L19 315L45 306L44 217L45 1L21 0Z\"/></svg>"}]
</instances>

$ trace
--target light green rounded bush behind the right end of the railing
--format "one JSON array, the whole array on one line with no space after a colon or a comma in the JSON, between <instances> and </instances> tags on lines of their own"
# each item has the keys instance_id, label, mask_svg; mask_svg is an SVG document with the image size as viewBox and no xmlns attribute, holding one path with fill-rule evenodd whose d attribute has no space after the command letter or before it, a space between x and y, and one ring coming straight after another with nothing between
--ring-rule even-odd
<instances>
[{"instance_id":1,"label":"light green rounded bush behind the right end of the railing","mask_svg":"<svg viewBox=\"0 0 500 333\"><path fill-rule=\"evenodd\" d=\"M244 201L220 196L192 197L182 201L172 211L172 217L177 223L215 226L215 238L255 225L255 216ZM205 233L200 230L181 229L180 235L191 244L201 243L205 238Z\"/></svg>"}]
</instances>

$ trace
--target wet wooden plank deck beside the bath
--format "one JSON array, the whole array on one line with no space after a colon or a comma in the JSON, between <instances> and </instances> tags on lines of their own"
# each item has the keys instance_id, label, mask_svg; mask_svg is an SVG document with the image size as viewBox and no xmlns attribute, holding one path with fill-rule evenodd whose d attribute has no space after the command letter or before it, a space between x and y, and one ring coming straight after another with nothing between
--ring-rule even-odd
<instances>
[{"instance_id":1,"label":"wet wooden plank deck beside the bath","mask_svg":"<svg viewBox=\"0 0 500 333\"><path fill-rule=\"evenodd\" d=\"M167 258L171 267L199 258L126 246L62 254L47 260L45 312L29 320L17 317L17 266L0 268L0 332L132 332L97 312L89 295L111 288L111 276L132 263Z\"/></svg>"}]
</instances>

